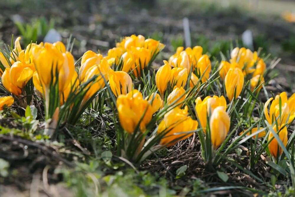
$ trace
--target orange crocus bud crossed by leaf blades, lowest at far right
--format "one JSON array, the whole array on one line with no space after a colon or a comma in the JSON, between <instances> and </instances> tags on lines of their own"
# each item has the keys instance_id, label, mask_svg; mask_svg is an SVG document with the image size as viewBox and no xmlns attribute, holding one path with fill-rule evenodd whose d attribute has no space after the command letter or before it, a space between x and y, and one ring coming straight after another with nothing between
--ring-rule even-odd
<instances>
[{"instance_id":1,"label":"orange crocus bud crossed by leaf blades, lowest at far right","mask_svg":"<svg viewBox=\"0 0 295 197\"><path fill-rule=\"evenodd\" d=\"M281 129L281 126L278 126L278 129ZM273 126L273 130L277 133L277 128L276 125ZM279 133L278 136L280 137L281 141L283 142L284 146L286 147L287 142L288 142L288 131L287 131L287 127L285 126ZM268 135L268 140L271 140L273 138L273 133L269 133ZM278 144L278 141L276 140L276 138L273 138L273 140L268 144L268 149L269 152L271 153L271 155L276 158L279 155L281 155L283 153L283 149L280 146L280 144Z\"/></svg>"}]
</instances>

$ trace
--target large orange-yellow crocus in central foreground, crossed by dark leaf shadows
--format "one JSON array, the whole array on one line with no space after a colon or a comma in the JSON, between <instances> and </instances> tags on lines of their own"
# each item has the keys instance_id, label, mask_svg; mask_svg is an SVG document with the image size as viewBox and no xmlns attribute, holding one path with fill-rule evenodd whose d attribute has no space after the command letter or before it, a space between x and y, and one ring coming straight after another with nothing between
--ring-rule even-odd
<instances>
[{"instance_id":1,"label":"large orange-yellow crocus in central foreground, crossed by dark leaf shadows","mask_svg":"<svg viewBox=\"0 0 295 197\"><path fill-rule=\"evenodd\" d=\"M133 133L138 126L144 132L146 125L152 119L152 107L147 100L142 98L140 92L131 91L127 95L119 95L117 99L117 108L119 120L122 128L128 133ZM141 95L141 96L140 96Z\"/></svg>"}]
</instances>

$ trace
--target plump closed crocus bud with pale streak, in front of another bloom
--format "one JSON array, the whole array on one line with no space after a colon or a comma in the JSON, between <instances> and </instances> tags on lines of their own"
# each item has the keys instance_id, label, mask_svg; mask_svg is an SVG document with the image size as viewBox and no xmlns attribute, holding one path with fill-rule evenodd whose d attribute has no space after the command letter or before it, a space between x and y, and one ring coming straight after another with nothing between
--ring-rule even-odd
<instances>
[{"instance_id":1,"label":"plump closed crocus bud with pale streak, in front of another bloom","mask_svg":"<svg viewBox=\"0 0 295 197\"><path fill-rule=\"evenodd\" d=\"M215 108L210 117L211 141L214 150L222 144L229 130L230 116L225 112L225 108L222 106Z\"/></svg>"}]
</instances>

